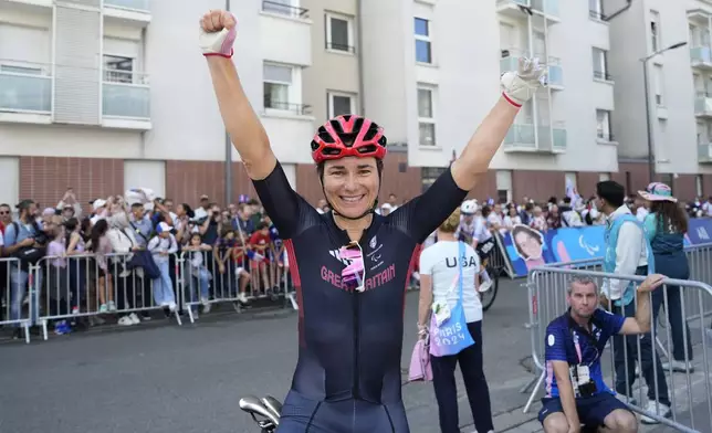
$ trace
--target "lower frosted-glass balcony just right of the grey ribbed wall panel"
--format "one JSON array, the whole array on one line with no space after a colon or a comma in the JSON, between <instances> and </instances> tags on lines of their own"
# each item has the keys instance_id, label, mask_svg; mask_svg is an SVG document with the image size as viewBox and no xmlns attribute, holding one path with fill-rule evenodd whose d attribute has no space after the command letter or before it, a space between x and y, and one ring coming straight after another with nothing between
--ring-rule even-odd
<instances>
[{"instance_id":1,"label":"lower frosted-glass balcony just right of the grey ribbed wall panel","mask_svg":"<svg viewBox=\"0 0 712 433\"><path fill-rule=\"evenodd\" d=\"M151 128L150 86L146 74L104 71L102 126L140 130Z\"/></svg>"}]
</instances>

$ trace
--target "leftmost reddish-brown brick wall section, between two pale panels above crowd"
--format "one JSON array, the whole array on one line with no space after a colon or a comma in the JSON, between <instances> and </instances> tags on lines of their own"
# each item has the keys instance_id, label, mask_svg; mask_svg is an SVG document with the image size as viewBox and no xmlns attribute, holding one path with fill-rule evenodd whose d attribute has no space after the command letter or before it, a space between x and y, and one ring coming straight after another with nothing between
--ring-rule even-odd
<instances>
[{"instance_id":1,"label":"leftmost reddish-brown brick wall section, between two pale panels above crowd","mask_svg":"<svg viewBox=\"0 0 712 433\"><path fill-rule=\"evenodd\" d=\"M20 200L55 207L67 188L88 210L88 201L124 191L124 160L20 157Z\"/></svg>"}]
</instances>

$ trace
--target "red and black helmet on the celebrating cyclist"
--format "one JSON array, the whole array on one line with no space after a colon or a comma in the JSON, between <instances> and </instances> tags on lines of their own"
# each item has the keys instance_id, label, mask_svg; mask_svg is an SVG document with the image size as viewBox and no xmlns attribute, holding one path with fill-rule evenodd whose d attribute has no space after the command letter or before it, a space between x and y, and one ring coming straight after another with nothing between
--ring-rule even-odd
<instances>
[{"instance_id":1,"label":"red and black helmet on the celebrating cyclist","mask_svg":"<svg viewBox=\"0 0 712 433\"><path fill-rule=\"evenodd\" d=\"M373 120L355 115L337 116L318 128L312 140L312 158L320 163L344 157L384 159L384 129Z\"/></svg>"}]
</instances>

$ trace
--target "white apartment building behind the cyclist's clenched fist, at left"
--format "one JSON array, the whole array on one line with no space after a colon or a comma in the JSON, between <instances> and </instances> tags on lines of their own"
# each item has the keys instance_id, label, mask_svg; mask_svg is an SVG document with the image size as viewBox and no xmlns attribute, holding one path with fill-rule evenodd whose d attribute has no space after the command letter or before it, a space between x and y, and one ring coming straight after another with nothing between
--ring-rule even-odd
<instances>
[{"instance_id":1,"label":"white apartment building behind the cyclist's clenched fist, at left","mask_svg":"<svg viewBox=\"0 0 712 433\"><path fill-rule=\"evenodd\" d=\"M224 1L0 0L0 200L50 204L148 187L223 200L226 135L198 20ZM303 97L312 21L282 2L233 1L234 61L287 177L311 162ZM295 144L303 144L296 146ZM233 197L249 182L237 152Z\"/></svg>"}]
</instances>

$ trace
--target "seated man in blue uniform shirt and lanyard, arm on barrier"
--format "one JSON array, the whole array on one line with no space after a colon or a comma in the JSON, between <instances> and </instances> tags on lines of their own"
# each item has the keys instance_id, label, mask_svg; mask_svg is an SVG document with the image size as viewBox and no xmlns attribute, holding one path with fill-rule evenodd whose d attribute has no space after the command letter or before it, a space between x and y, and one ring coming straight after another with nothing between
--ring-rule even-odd
<instances>
[{"instance_id":1,"label":"seated man in blue uniform shirt and lanyard, arm on barrier","mask_svg":"<svg viewBox=\"0 0 712 433\"><path fill-rule=\"evenodd\" d=\"M538 415L546 433L578 432L580 424L591 431L599 426L617 433L638 431L636 416L606 387L600 356L614 335L650 330L649 293L663 278L653 274L640 283L635 318L598 308L593 279L572 279L566 296L570 308L546 328L546 397Z\"/></svg>"}]
</instances>

